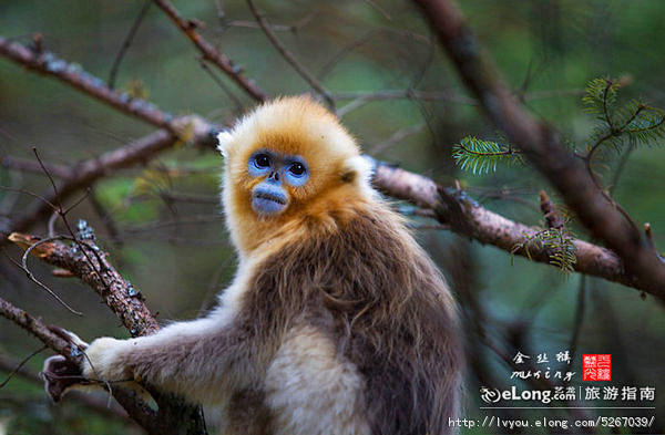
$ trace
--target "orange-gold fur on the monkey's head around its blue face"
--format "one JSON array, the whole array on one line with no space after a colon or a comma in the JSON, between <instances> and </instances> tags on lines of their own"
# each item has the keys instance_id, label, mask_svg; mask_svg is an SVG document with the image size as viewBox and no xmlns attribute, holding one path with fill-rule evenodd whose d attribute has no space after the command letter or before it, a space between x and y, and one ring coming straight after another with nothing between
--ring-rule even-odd
<instances>
[{"instance_id":1,"label":"orange-gold fur on the monkey's head around its blue face","mask_svg":"<svg viewBox=\"0 0 665 435\"><path fill-rule=\"evenodd\" d=\"M224 135L226 157L224 206L227 225L242 255L276 236L303 229L307 220L335 226L349 204L371 195L369 169L360 151L337 117L309 97L283 97L265 103ZM309 167L305 186L285 186L289 204L278 216L260 217L252 209L252 189L262 182L247 170L249 156L262 149L298 155ZM294 235L295 236L295 235ZM287 237L288 238L288 237Z\"/></svg>"}]
</instances>

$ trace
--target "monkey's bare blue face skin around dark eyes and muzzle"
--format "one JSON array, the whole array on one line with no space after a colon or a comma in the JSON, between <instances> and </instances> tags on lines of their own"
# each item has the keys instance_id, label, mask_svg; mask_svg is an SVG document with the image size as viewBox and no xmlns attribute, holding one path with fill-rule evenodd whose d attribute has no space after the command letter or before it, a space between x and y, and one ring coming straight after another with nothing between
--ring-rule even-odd
<instances>
[{"instance_id":1,"label":"monkey's bare blue face skin around dark eyes and muzzle","mask_svg":"<svg viewBox=\"0 0 665 435\"><path fill-rule=\"evenodd\" d=\"M252 208L260 216L275 216L286 210L287 187L301 187L309 178L307 163L300 156L289 156L260 149L249 156L249 176L262 178L252 189Z\"/></svg>"}]
</instances>

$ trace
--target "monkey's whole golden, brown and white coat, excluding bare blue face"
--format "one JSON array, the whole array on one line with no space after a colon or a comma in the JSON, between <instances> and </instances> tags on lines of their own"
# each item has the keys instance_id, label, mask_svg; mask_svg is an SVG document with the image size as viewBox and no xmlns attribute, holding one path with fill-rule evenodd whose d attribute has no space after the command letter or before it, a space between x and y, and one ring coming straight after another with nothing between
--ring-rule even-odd
<instances>
[{"instance_id":1,"label":"monkey's whole golden, brown and white coat, excluding bare blue face","mask_svg":"<svg viewBox=\"0 0 665 435\"><path fill-rule=\"evenodd\" d=\"M462 366L454 301L370 188L352 137L324 107L293 97L247 115L221 148L241 258L234 283L204 319L96 340L95 373L216 404L225 434L453 433ZM262 148L297 154L310 169L272 217L250 205L259 179L247 159Z\"/></svg>"}]
</instances>

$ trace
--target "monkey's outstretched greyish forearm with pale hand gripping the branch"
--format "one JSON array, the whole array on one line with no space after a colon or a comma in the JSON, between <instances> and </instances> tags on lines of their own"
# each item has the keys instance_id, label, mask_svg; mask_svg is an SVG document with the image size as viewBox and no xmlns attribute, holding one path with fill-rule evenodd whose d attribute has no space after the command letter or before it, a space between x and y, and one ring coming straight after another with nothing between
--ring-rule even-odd
<instances>
[{"instance_id":1,"label":"monkey's outstretched greyish forearm with pale hand gripping the branch","mask_svg":"<svg viewBox=\"0 0 665 435\"><path fill-rule=\"evenodd\" d=\"M214 318L174 323L149 336L96 339L85 353L85 377L133 379L194 401L243 386L253 366L250 338Z\"/></svg>"}]
</instances>

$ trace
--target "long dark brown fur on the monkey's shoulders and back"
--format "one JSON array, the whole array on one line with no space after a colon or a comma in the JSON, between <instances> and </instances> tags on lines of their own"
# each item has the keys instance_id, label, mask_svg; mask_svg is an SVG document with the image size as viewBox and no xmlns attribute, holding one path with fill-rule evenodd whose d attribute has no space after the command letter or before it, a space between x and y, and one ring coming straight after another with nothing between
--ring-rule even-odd
<instances>
[{"instance_id":1,"label":"long dark brown fur on the monkey's shoulders and back","mask_svg":"<svg viewBox=\"0 0 665 435\"><path fill-rule=\"evenodd\" d=\"M289 328L311 322L366 380L375 434L448 434L457 416L461 344L454 302L401 219L379 201L349 219L300 222L258 268L244 314L267 363ZM262 364L263 365L263 364Z\"/></svg>"}]
</instances>

